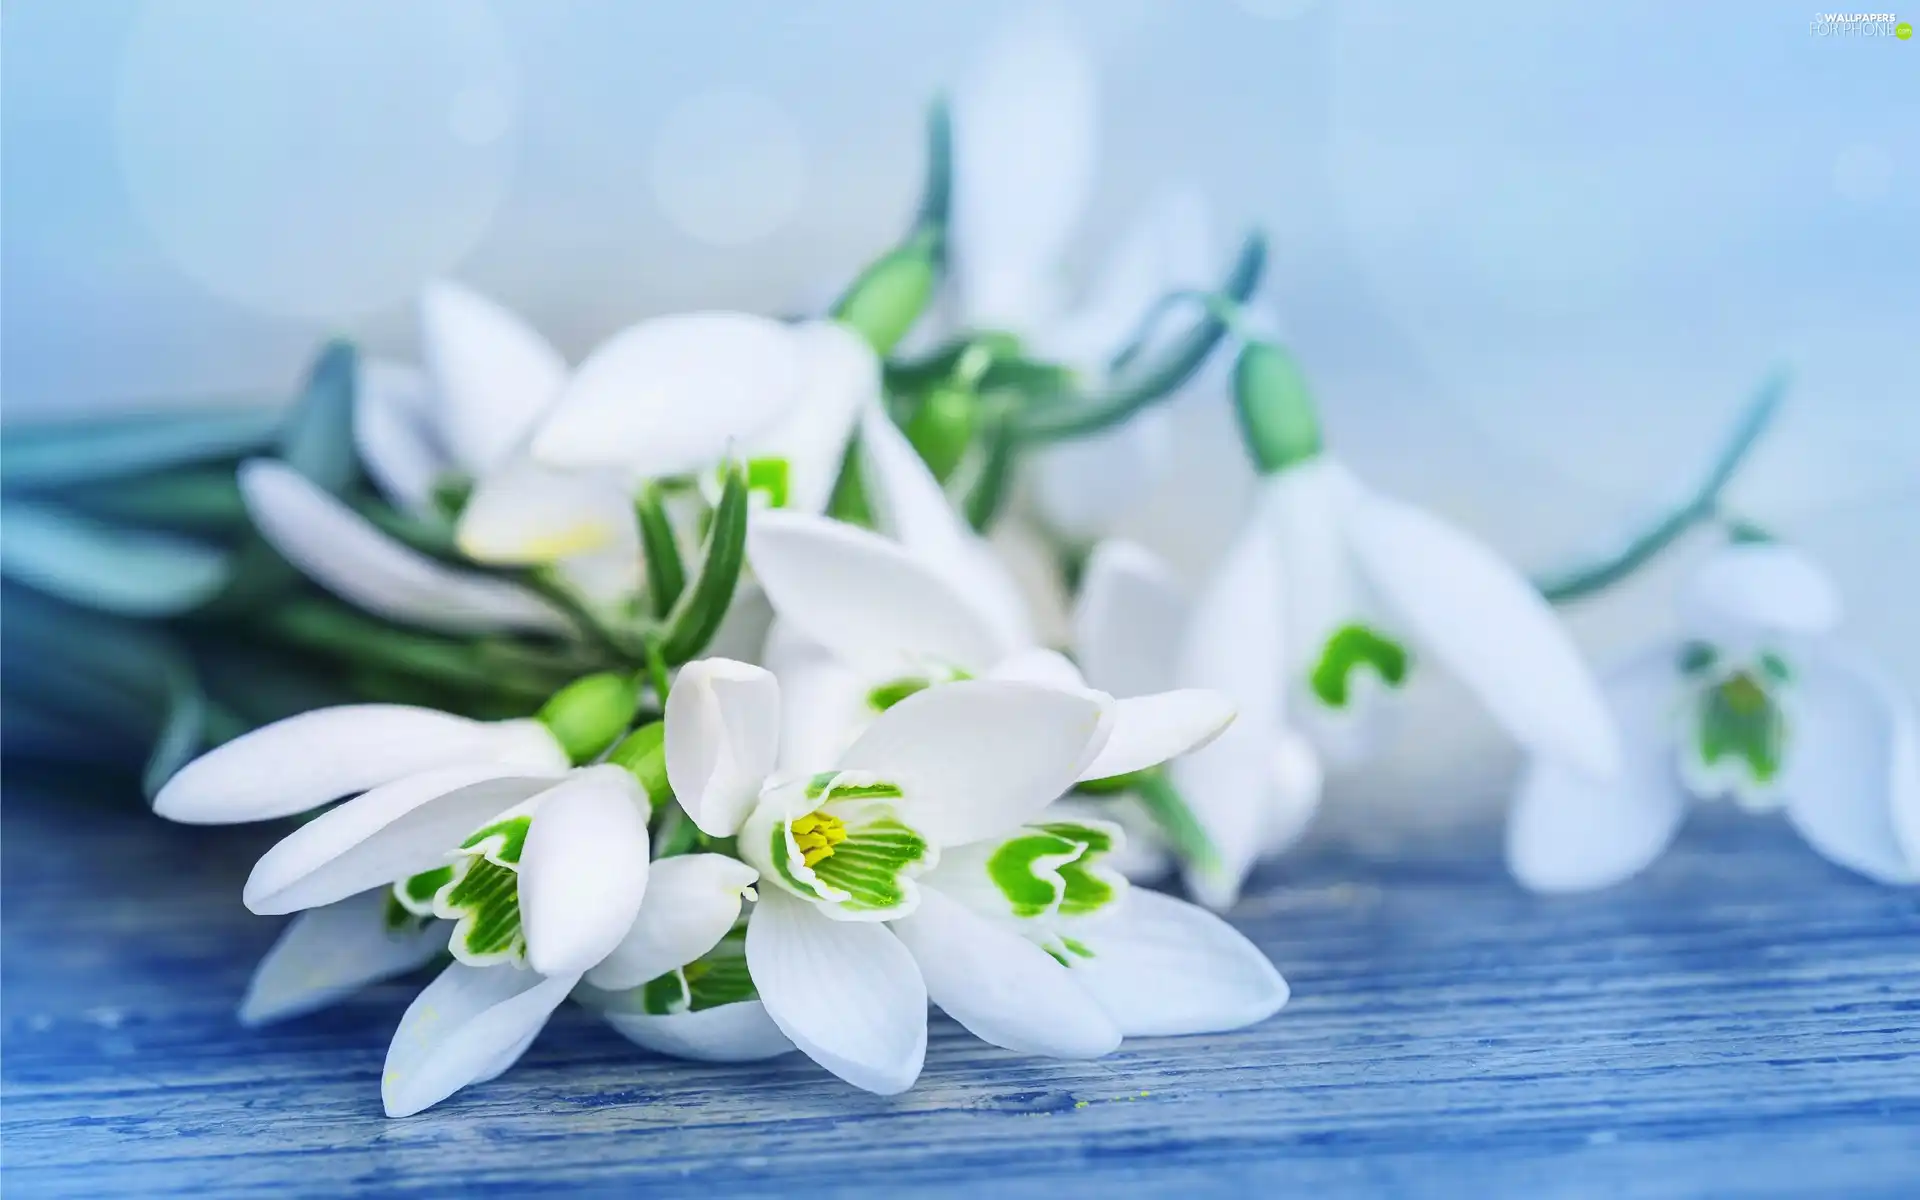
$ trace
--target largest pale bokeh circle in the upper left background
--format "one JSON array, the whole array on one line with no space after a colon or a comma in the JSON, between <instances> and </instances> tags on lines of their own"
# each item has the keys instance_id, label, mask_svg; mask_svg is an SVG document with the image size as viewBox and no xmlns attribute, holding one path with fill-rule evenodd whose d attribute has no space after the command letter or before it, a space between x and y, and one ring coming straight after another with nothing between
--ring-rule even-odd
<instances>
[{"instance_id":1,"label":"largest pale bokeh circle in the upper left background","mask_svg":"<svg viewBox=\"0 0 1920 1200\"><path fill-rule=\"evenodd\" d=\"M121 60L119 163L182 273L336 321L472 250L513 173L518 102L478 4L150 0Z\"/></svg>"}]
</instances>

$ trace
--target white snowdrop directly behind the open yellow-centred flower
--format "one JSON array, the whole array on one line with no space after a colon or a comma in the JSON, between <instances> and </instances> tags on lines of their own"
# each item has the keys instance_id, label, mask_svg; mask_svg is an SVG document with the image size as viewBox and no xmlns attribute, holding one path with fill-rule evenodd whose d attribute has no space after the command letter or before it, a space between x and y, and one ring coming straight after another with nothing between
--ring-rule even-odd
<instances>
[{"instance_id":1,"label":"white snowdrop directly behind the open yellow-centred flower","mask_svg":"<svg viewBox=\"0 0 1920 1200\"><path fill-rule=\"evenodd\" d=\"M899 699L964 678L1043 682L1100 703L1083 780L1164 762L1233 720L1210 691L1114 701L1087 689L1071 662L1035 645L1008 572L885 415L868 415L860 447L874 507L899 541L789 513L764 513L747 532L747 559L780 618L766 660L789 691L789 758L818 762Z\"/></svg>"}]
</instances>

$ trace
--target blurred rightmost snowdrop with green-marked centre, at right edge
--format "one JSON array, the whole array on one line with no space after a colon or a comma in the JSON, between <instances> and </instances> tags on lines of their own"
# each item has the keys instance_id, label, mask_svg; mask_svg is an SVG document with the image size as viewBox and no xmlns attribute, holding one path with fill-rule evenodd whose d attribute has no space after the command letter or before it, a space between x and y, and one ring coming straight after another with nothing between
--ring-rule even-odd
<instances>
[{"instance_id":1,"label":"blurred rightmost snowdrop with green-marked centre, at right edge","mask_svg":"<svg viewBox=\"0 0 1920 1200\"><path fill-rule=\"evenodd\" d=\"M1624 770L1594 778L1540 753L1507 826L1536 891L1607 887L1672 841L1688 799L1784 812L1826 858L1920 881L1920 722L1912 701L1834 641L1839 595L1776 543L1716 551L1680 593L1682 639L1605 678Z\"/></svg>"}]
</instances>

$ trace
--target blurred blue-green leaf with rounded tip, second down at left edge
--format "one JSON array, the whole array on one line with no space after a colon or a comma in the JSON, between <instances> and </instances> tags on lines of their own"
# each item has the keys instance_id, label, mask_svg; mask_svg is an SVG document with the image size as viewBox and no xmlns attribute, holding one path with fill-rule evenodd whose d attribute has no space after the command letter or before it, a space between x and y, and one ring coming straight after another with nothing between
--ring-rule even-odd
<instances>
[{"instance_id":1,"label":"blurred blue-green leaf with rounded tip, second down at left edge","mask_svg":"<svg viewBox=\"0 0 1920 1200\"><path fill-rule=\"evenodd\" d=\"M84 609L179 616L232 578L228 551L177 534L117 528L25 499L0 505L0 574Z\"/></svg>"}]
</instances>

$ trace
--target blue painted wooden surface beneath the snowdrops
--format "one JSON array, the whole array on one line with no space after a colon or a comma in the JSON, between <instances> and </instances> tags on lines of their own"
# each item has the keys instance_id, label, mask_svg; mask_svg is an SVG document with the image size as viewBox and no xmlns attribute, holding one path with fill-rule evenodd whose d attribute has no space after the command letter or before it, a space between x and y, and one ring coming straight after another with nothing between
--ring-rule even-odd
<instances>
[{"instance_id":1,"label":"blue painted wooden surface beneath the snowdrops","mask_svg":"<svg viewBox=\"0 0 1920 1200\"><path fill-rule=\"evenodd\" d=\"M267 1031L230 1010L275 922L263 829L13 789L13 1196L1920 1196L1920 895L1732 814L1624 889L1542 900L1494 831L1269 870L1235 920L1294 1002L1225 1037L1020 1060L935 1020L883 1100L803 1058L645 1056L578 1010L505 1079L380 1116L411 983Z\"/></svg>"}]
</instances>

